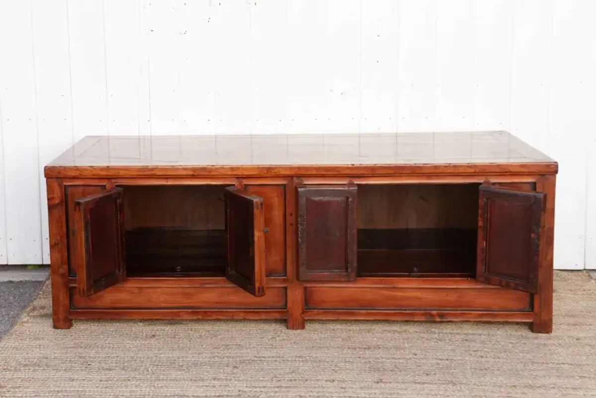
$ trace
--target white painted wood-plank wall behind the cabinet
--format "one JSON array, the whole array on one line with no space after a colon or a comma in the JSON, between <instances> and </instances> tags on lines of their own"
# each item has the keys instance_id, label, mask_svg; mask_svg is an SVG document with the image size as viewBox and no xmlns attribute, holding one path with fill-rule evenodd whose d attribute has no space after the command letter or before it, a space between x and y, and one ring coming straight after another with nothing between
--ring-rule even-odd
<instances>
[{"instance_id":1,"label":"white painted wood-plank wall behind the cabinet","mask_svg":"<svg viewBox=\"0 0 596 398\"><path fill-rule=\"evenodd\" d=\"M595 37L593 0L0 0L0 264L49 262L85 135L506 129L560 162L555 267L596 268Z\"/></svg>"}]
</instances>

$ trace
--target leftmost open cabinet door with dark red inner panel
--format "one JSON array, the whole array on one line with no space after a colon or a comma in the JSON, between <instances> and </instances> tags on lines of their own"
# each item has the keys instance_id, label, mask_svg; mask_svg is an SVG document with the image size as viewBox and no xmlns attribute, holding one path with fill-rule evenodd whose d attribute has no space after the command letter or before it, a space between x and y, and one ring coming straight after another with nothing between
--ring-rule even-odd
<instances>
[{"instance_id":1,"label":"leftmost open cabinet door with dark red inner panel","mask_svg":"<svg viewBox=\"0 0 596 398\"><path fill-rule=\"evenodd\" d=\"M77 199L74 217L77 286L91 296L125 278L122 189Z\"/></svg>"}]
</instances>

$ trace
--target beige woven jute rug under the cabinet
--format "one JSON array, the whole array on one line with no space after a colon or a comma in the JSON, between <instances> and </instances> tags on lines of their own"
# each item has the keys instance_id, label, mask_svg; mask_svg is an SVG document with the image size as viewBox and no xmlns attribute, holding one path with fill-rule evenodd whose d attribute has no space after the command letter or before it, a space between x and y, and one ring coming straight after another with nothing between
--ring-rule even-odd
<instances>
[{"instance_id":1,"label":"beige woven jute rug under the cabinet","mask_svg":"<svg viewBox=\"0 0 596 398\"><path fill-rule=\"evenodd\" d=\"M596 397L596 281L555 273L551 335L426 322L75 321L49 283L0 341L2 397Z\"/></svg>"}]
</instances>

